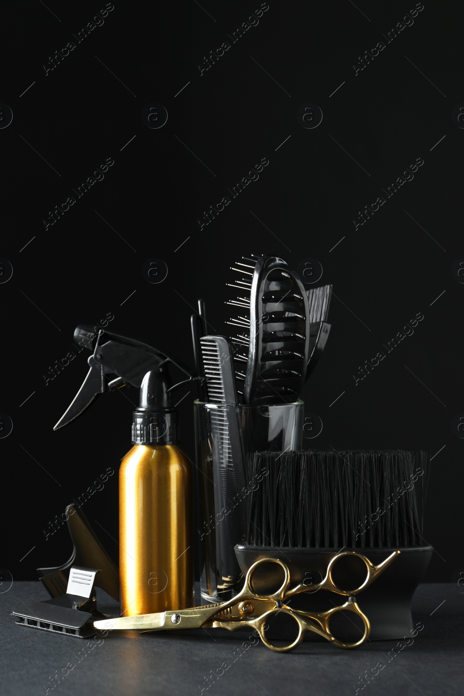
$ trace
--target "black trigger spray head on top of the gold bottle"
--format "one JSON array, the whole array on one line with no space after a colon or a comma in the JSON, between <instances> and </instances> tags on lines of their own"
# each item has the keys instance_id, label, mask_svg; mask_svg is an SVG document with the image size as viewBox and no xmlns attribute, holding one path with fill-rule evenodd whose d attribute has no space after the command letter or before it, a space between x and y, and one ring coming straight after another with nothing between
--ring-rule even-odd
<instances>
[{"instance_id":1,"label":"black trigger spray head on top of the gold bottle","mask_svg":"<svg viewBox=\"0 0 464 696\"><path fill-rule=\"evenodd\" d=\"M191 374L182 363L146 343L109 331L95 332L90 324L77 326L74 341L92 351L88 358L90 370L54 430L80 416L99 394L122 386L134 386L140 389L140 403L134 412L134 419L137 416L136 424L143 425L145 430L139 428L141 432L134 438L133 423L132 441L143 444L161 443L161 438L163 442L172 440L173 438L169 438L169 429L176 433L178 430L172 403L173 391L181 384L200 378ZM169 364L178 367L187 379L173 385L168 371ZM164 427L166 422L167 426Z\"/></svg>"}]
</instances>

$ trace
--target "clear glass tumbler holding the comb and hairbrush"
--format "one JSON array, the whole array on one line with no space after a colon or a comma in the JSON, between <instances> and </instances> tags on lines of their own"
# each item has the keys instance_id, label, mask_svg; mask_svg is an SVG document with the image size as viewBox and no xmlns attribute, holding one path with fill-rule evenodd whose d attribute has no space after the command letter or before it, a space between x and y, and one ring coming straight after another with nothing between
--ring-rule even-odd
<instances>
[{"instance_id":1,"label":"clear glass tumbler holding the comb and hairbrush","mask_svg":"<svg viewBox=\"0 0 464 696\"><path fill-rule=\"evenodd\" d=\"M243 578L234 546L246 542L247 496L259 485L259 480L246 480L246 457L264 450L301 450L304 404L236 406L195 401L193 410L200 496L200 590L205 601L225 601L241 590ZM235 425L239 445L237 438L229 437ZM237 446L241 452L234 457Z\"/></svg>"}]
</instances>

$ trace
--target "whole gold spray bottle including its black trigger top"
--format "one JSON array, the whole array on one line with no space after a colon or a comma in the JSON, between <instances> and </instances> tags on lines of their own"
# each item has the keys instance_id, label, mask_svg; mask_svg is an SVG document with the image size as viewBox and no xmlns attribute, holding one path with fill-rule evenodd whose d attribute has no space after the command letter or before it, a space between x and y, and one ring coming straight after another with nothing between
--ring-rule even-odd
<instances>
[{"instance_id":1,"label":"whole gold spray bottle including its black trigger top","mask_svg":"<svg viewBox=\"0 0 464 696\"><path fill-rule=\"evenodd\" d=\"M119 475L120 611L137 616L193 606L192 472L177 448L173 390L193 379L184 365L145 343L80 325L74 341L93 351L90 370L54 430L79 416L95 396L140 389L132 444ZM173 386L168 363L188 379Z\"/></svg>"}]
</instances>

